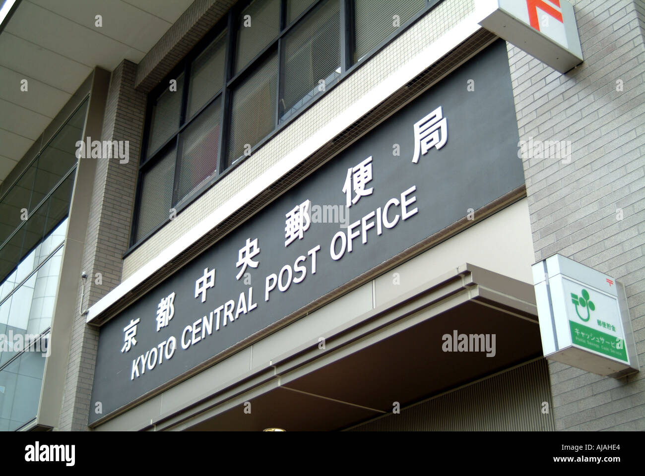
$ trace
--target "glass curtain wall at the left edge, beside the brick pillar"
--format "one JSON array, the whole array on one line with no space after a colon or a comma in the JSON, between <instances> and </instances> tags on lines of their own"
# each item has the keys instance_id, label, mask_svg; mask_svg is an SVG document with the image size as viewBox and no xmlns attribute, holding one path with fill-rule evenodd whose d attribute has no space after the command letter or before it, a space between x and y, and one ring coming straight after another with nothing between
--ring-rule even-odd
<instances>
[{"instance_id":1,"label":"glass curtain wall at the left edge, beside the brick pillar","mask_svg":"<svg viewBox=\"0 0 645 476\"><path fill-rule=\"evenodd\" d=\"M38 412L87 104L0 197L0 431Z\"/></svg>"}]
</instances>

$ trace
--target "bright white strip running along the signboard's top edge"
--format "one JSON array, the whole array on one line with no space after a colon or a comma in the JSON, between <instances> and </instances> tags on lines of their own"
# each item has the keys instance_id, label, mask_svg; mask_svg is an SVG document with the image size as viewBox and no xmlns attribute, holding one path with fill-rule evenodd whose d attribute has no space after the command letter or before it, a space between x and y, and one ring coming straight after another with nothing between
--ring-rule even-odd
<instances>
[{"instance_id":1,"label":"bright white strip running along the signboard's top edge","mask_svg":"<svg viewBox=\"0 0 645 476\"><path fill-rule=\"evenodd\" d=\"M210 232L219 223L222 223L233 212L238 210L242 204L247 203L260 192L263 192L268 186L283 177L283 175L292 170L304 159L332 140L333 137L339 135L363 115L367 114L376 104L390 97L411 79L421 74L428 66L439 61L450 50L475 34L475 32L481 30L482 27L477 23L476 18L477 10L462 19L453 28L448 30L446 34L437 39L437 41L430 43L421 53L410 59L408 63L401 66L399 70L382 81L382 83L373 88L368 94L363 95L352 107L346 109L335 117L333 121L330 121L330 123L313 134L303 144L293 149L279 163L273 165L264 174L244 186L240 192L233 195L233 197L228 199L217 210L196 224L192 229L188 230L188 232L184 233L181 238L170 244L163 252L148 261L148 263L144 264L139 270L128 277L128 279L123 281L123 283L119 284L114 290L97 301L88 310L86 322L94 321L104 310L119 301L119 299L135 288L135 286L142 283L150 275L159 270L159 268L164 266L164 264L174 259L174 257L183 252L188 246Z\"/></svg>"}]
</instances>

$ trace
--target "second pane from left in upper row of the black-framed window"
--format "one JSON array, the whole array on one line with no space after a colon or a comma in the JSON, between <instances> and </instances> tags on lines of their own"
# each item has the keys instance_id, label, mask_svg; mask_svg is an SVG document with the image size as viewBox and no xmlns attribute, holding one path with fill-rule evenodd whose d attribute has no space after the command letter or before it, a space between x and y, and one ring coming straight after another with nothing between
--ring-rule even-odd
<instances>
[{"instance_id":1,"label":"second pane from left in upper row of the black-framed window","mask_svg":"<svg viewBox=\"0 0 645 476\"><path fill-rule=\"evenodd\" d=\"M202 52L190 66L187 117L192 117L224 83L226 30Z\"/></svg>"}]
</instances>

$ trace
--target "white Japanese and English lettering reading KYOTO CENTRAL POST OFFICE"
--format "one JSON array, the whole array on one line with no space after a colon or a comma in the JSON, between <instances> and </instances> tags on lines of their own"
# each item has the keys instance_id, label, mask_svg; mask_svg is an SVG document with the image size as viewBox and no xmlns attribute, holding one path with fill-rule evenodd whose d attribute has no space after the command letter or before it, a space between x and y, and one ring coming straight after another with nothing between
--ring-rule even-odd
<instances>
[{"instance_id":1,"label":"white Japanese and English lettering reading KYOTO CENTRAL POST OFFICE","mask_svg":"<svg viewBox=\"0 0 645 476\"><path fill-rule=\"evenodd\" d=\"M442 117L441 106L431 114L424 117L415 124L415 156L426 154L430 147L441 148L446 143L446 119ZM417 157L418 159L418 157ZM356 166L347 169L342 193L346 197L346 209L355 205L361 197L369 197L373 193L373 186L368 186L373 177L373 157L367 157ZM330 257L332 261L339 261L348 253L358 252L362 246L376 241L385 230L391 230L400 223L410 219L419 212L415 206L417 197L415 192L417 186L412 185L399 195L390 198L382 204L365 213L360 219L349 223L346 221L346 229L341 230L333 235L329 244ZM310 228L312 218L310 217L311 201L306 200L295 206L286 213L285 221L285 238L284 246L288 246L295 239L305 239L304 232ZM317 222L316 222L317 223ZM375 246L375 245L373 245ZM272 292L278 290L280 293L287 293L292 286L304 283L307 279L317 273L318 252L321 250L320 244L315 244L306 252L299 256L293 257L293 261L281 266L274 272L266 275L264 279L264 302L268 302ZM255 239L246 239L246 243L239 249L238 259L235 267L239 268L235 279L244 275L248 268L258 268L259 261L255 259L260 253L259 241ZM215 288L215 268L204 268L202 275L195 280L195 299L200 299L205 303L207 291ZM279 296L278 294L277 296ZM232 299L222 299L221 304L215 308L205 310L204 315L195 319L186 319L187 324L183 324L183 329L175 329L175 335L170 335L167 339L160 342L157 346L150 348L145 353L132 360L130 371L130 380L134 381L145 375L146 372L154 372L155 368L163 365L164 361L169 361L176 353L178 348L189 350L199 345L206 339L210 339L219 332L224 332L227 326L232 326L235 321L244 315L252 312L258 306L253 301L253 287L249 286L235 295ZM157 332L172 327L172 319L181 310L177 310L177 295L175 292L170 293L167 297L161 298L157 304ZM128 352L132 346L137 344L137 324L140 318L132 320L124 329L124 346L121 352ZM214 330L213 330L214 328Z\"/></svg>"}]
</instances>

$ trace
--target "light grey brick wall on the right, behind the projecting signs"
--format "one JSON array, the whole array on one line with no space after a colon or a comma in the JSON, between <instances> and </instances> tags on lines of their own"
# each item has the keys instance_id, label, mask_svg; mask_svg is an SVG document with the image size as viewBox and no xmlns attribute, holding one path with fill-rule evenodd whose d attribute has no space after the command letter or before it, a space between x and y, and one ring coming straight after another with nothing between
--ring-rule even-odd
<instances>
[{"instance_id":1,"label":"light grey brick wall on the right, behind the projecting signs","mask_svg":"<svg viewBox=\"0 0 645 476\"><path fill-rule=\"evenodd\" d=\"M520 140L571 141L570 163L523 159L535 260L561 253L622 281L644 366L645 6L571 3L581 66L562 75L508 45ZM612 379L551 362L550 376L557 430L645 430L644 372Z\"/></svg>"}]
</instances>

